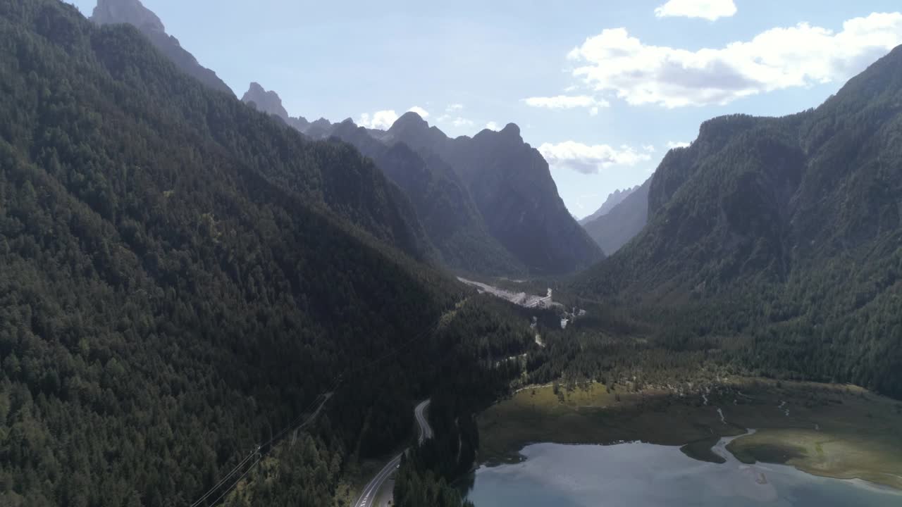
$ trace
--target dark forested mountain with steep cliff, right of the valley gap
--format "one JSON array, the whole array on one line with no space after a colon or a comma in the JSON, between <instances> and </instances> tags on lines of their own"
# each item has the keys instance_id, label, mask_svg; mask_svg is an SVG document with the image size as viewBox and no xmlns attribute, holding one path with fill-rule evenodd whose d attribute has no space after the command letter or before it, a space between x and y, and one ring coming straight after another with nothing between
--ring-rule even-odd
<instances>
[{"instance_id":1,"label":"dark forested mountain with steep cliff, right of the valley gap","mask_svg":"<svg viewBox=\"0 0 902 507\"><path fill-rule=\"evenodd\" d=\"M902 47L816 109L705 122L655 172L648 226L577 290L667 308L663 339L735 336L761 372L898 397L900 133Z\"/></svg>"}]
</instances>

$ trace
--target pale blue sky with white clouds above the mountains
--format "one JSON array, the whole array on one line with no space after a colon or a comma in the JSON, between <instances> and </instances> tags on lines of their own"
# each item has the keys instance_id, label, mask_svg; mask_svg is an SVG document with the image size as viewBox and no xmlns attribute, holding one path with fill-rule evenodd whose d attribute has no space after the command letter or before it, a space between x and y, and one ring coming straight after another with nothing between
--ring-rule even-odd
<instances>
[{"instance_id":1,"label":"pale blue sky with white clouds above the mountains","mask_svg":"<svg viewBox=\"0 0 902 507\"><path fill-rule=\"evenodd\" d=\"M89 15L96 0L73 2ZM719 115L816 107L902 44L898 0L143 0L238 97L446 134L520 125L575 217Z\"/></svg>"}]
</instances>

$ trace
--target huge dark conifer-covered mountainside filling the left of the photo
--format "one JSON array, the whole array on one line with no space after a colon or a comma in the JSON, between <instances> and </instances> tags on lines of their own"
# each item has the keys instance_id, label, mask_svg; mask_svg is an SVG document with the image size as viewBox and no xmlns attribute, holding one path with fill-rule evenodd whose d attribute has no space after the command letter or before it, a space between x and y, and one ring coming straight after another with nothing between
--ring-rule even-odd
<instances>
[{"instance_id":1,"label":"huge dark conifer-covered mountainside filling the left of the photo","mask_svg":"<svg viewBox=\"0 0 902 507\"><path fill-rule=\"evenodd\" d=\"M0 74L0 504L190 504L343 372L301 504L408 434L461 292L372 162L57 0L0 0Z\"/></svg>"}]
</instances>

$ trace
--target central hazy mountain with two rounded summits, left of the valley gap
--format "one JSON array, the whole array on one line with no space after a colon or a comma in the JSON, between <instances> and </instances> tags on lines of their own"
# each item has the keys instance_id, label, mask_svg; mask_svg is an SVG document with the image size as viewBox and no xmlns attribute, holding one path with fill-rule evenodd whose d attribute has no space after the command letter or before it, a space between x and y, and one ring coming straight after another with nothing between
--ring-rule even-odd
<instances>
[{"instance_id":1,"label":"central hazy mountain with two rounded summits, left of the valley gap","mask_svg":"<svg viewBox=\"0 0 902 507\"><path fill-rule=\"evenodd\" d=\"M387 134L426 158L446 161L469 190L489 233L530 272L573 272L603 258L567 212L548 162L523 142L517 125L450 139L410 112Z\"/></svg>"}]
</instances>

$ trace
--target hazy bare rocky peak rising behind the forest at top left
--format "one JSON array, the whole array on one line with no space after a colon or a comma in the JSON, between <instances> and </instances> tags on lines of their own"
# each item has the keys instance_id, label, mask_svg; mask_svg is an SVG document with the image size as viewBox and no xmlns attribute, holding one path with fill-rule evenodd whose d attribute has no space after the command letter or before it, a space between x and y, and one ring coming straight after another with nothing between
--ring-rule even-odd
<instances>
[{"instance_id":1,"label":"hazy bare rocky peak rising behind the forest at top left","mask_svg":"<svg viewBox=\"0 0 902 507\"><path fill-rule=\"evenodd\" d=\"M181 47L178 39L166 33L160 18L144 7L140 0L97 0L91 20L97 24L133 25L183 72L198 79L207 87L235 95L232 88L228 88L226 83L216 76L216 72L201 66L194 55Z\"/></svg>"}]
</instances>

